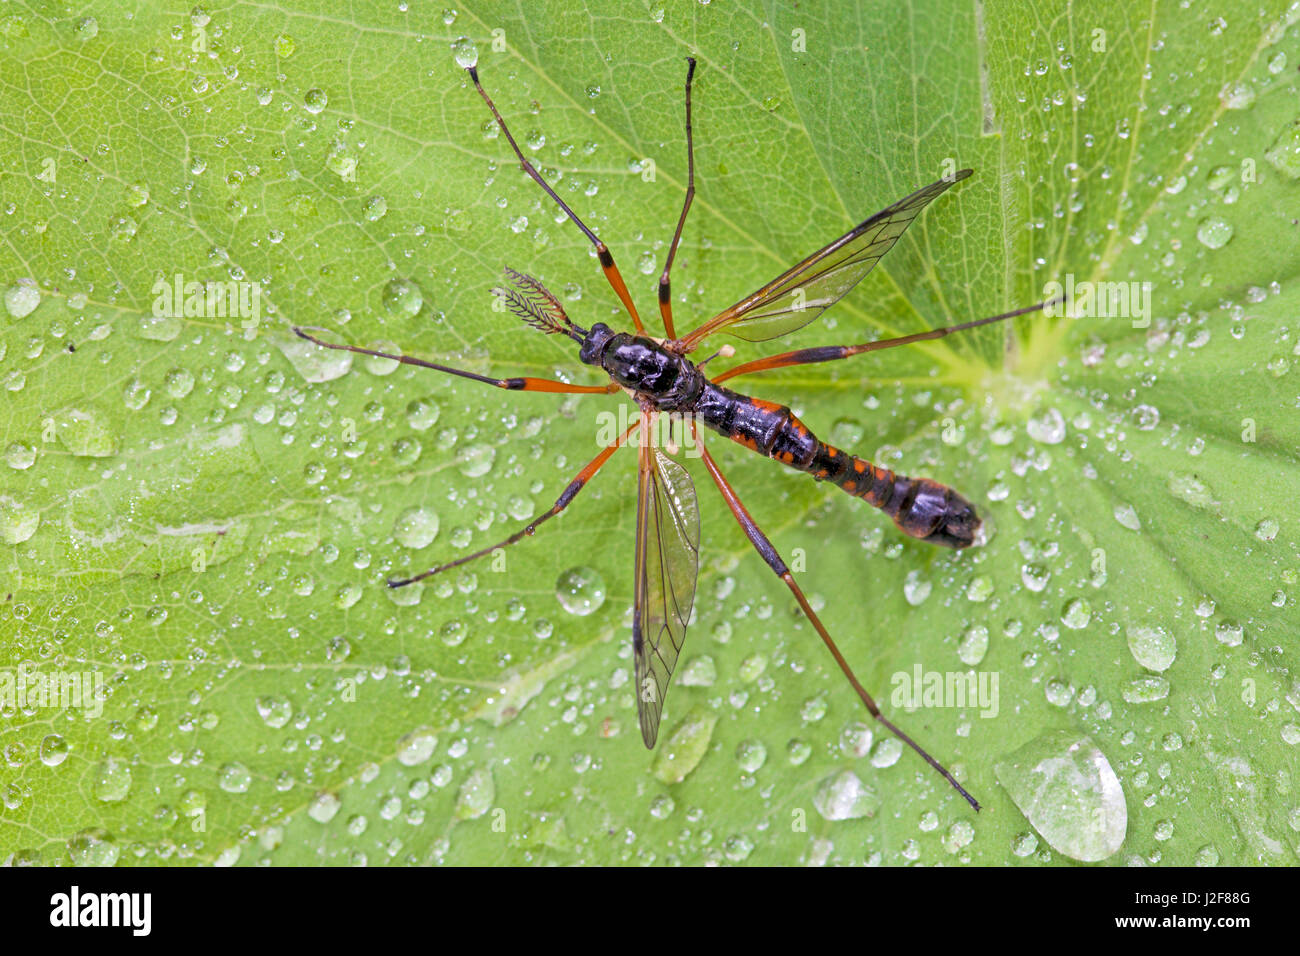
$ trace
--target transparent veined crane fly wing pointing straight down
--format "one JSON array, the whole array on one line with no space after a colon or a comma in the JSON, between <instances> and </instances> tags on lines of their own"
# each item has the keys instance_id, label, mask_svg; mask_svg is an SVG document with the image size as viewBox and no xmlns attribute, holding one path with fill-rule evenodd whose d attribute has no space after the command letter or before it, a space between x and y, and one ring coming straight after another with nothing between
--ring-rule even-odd
<instances>
[{"instance_id":1,"label":"transparent veined crane fly wing pointing straight down","mask_svg":"<svg viewBox=\"0 0 1300 956\"><path fill-rule=\"evenodd\" d=\"M699 506L680 464L653 445L651 415L641 419L637 489L637 580L632 613L637 715L641 737L654 747L672 670L686 639L699 572Z\"/></svg>"}]
</instances>

